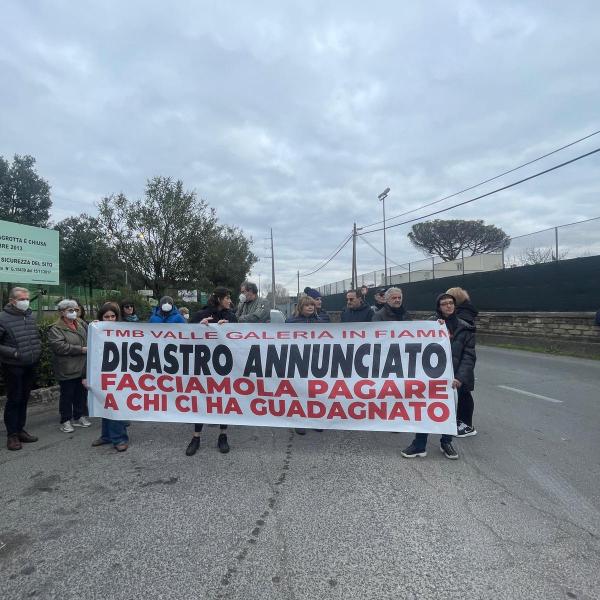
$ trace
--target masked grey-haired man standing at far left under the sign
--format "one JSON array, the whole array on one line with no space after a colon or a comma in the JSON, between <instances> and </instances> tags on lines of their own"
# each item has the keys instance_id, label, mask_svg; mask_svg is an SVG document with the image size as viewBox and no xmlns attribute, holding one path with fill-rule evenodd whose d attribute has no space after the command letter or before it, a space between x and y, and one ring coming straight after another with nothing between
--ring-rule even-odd
<instances>
[{"instance_id":1,"label":"masked grey-haired man standing at far left under the sign","mask_svg":"<svg viewBox=\"0 0 600 600\"><path fill-rule=\"evenodd\" d=\"M21 444L38 440L25 431L25 421L41 354L40 332L29 308L29 290L14 287L8 293L8 304L0 312L0 363L6 385L4 424L9 450L21 450Z\"/></svg>"}]
</instances>

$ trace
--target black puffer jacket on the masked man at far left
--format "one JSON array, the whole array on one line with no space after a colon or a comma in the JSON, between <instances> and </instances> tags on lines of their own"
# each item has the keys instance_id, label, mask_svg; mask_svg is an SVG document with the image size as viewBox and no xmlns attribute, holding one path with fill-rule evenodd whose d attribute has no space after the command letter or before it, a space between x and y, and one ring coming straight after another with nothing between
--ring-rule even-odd
<instances>
[{"instance_id":1,"label":"black puffer jacket on the masked man at far left","mask_svg":"<svg viewBox=\"0 0 600 600\"><path fill-rule=\"evenodd\" d=\"M8 303L0 313L0 361L26 367L40 360L42 343L35 317Z\"/></svg>"}]
</instances>

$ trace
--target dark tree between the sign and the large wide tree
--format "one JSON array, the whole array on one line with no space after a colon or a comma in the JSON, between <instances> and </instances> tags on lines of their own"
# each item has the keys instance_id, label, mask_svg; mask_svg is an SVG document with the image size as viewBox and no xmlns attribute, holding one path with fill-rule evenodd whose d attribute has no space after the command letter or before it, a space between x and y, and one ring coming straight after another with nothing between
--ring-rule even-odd
<instances>
[{"instance_id":1,"label":"dark tree between the sign and the large wide tree","mask_svg":"<svg viewBox=\"0 0 600 600\"><path fill-rule=\"evenodd\" d=\"M64 219L56 229L60 232L61 278L71 284L86 286L89 297L95 287L118 287L124 270L115 261L98 219L82 214Z\"/></svg>"}]
</instances>

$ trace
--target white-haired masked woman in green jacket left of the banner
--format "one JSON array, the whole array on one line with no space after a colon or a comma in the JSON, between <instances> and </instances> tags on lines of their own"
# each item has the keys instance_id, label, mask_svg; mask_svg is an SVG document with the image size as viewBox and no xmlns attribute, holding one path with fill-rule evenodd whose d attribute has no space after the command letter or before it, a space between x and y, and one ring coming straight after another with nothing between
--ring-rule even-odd
<instances>
[{"instance_id":1,"label":"white-haired masked woman in green jacket left of the banner","mask_svg":"<svg viewBox=\"0 0 600 600\"><path fill-rule=\"evenodd\" d=\"M72 433L74 427L89 427L86 389L83 386L87 358L87 324L78 318L77 302L61 300L59 318L48 330L54 376L60 386L60 430Z\"/></svg>"}]
</instances>

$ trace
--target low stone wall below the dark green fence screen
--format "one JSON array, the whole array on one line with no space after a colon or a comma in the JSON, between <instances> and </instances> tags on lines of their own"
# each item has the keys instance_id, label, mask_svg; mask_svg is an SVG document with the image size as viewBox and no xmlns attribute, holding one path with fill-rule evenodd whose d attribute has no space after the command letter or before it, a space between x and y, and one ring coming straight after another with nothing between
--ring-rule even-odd
<instances>
[{"instance_id":1,"label":"low stone wall below the dark green fence screen","mask_svg":"<svg viewBox=\"0 0 600 600\"><path fill-rule=\"evenodd\" d=\"M339 321L340 312L331 312ZM431 311L411 312L427 319ZM481 344L512 344L600 357L600 327L593 312L482 312L477 318L477 341Z\"/></svg>"}]
</instances>

